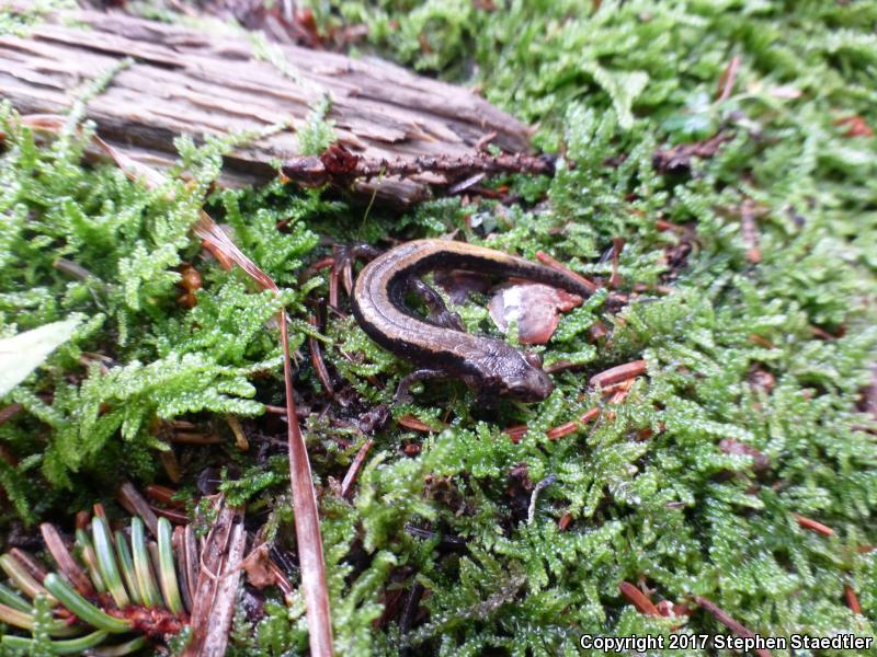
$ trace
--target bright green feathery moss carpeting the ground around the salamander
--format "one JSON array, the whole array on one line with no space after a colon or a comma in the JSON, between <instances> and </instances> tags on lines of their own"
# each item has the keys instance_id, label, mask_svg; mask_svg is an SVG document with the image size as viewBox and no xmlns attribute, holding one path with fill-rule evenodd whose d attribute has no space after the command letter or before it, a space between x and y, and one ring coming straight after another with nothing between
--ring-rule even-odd
<instances>
[{"instance_id":1,"label":"bright green feathery moss carpeting the ground around the salamander","mask_svg":"<svg viewBox=\"0 0 877 657\"><path fill-rule=\"evenodd\" d=\"M523 199L509 207L445 199L366 216L280 184L209 196L208 209L284 288L305 355L296 388L315 411L303 428L338 653L574 655L581 633L667 635L680 624L727 633L704 610L640 614L619 595L625 580L647 584L656 601L703 596L763 635L873 636L877 560L863 546L877 543L877 425L863 391L877 355L877 149L863 126L877 126L877 2L311 4L323 30L367 24L360 50L477 84L538 124L538 147L563 153L553 180L505 181ZM734 57L733 85L717 101ZM11 502L3 527L71 525L71 505L109 502L122 476L166 482L158 419L228 435L223 416L234 414L251 418L251 451L230 439L176 447L181 487L193 493L205 468L226 465L220 487L294 551L286 460L274 441L283 427L262 415L263 403L282 400L277 336L266 326L278 302L221 270L190 233L221 145L181 142L182 168L200 183L150 192L112 166L83 168L72 131L36 145L9 110L2 122L0 332L82 318L4 400L25 411L0 426L13 457L0 459ZM654 158L719 131L728 140L714 157L670 172ZM556 376L542 404L482 410L451 383L395 410L447 428L390 424L352 500L342 499L332 479L365 438L333 420L390 402L407 369L330 313L321 339L338 395L327 402L305 342L308 303L324 297L326 279L299 285L298 275L327 253L320 235L374 242L455 230L527 257L547 251L594 276L610 273L600 256L622 237L626 288L671 291L643 293L617 315L600 297L567 315L546 360L582 367ZM89 274L71 277L58 258ZM205 281L192 310L178 301L185 263ZM482 304L459 310L472 330L489 328ZM597 320L612 330L608 345L586 341ZM638 358L648 376L622 403L589 392L591 374ZM593 425L546 436L597 406ZM521 423L531 430L515 443L502 429ZM759 450L770 468L756 472L722 440ZM549 476L529 521L527 485ZM834 534L802 529L796 515ZM402 632L414 583L421 611ZM265 611L258 622L241 611L236 654L304 652L300 600L291 612L278 601Z\"/></svg>"}]
</instances>

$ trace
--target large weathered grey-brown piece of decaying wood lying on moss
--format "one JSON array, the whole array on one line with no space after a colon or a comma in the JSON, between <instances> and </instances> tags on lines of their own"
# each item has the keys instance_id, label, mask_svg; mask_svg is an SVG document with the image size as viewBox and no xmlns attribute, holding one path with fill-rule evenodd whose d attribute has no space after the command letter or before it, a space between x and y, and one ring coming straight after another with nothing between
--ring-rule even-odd
<instances>
[{"instance_id":1,"label":"large weathered grey-brown piece of decaying wood lying on moss","mask_svg":"<svg viewBox=\"0 0 877 657\"><path fill-rule=\"evenodd\" d=\"M339 142L367 160L466 158L485 139L506 152L527 150L526 126L467 90L376 59L272 45L278 62L264 51L237 30L58 12L25 37L0 36L0 95L22 114L64 112L83 83L130 57L134 64L91 100L88 116L113 148L162 168L173 162L179 135L200 139L286 123L288 129L226 159L228 184L265 181L276 175L272 160L300 155L296 132L326 97ZM422 183L438 174L430 175L356 185L412 203L429 194Z\"/></svg>"}]
</instances>

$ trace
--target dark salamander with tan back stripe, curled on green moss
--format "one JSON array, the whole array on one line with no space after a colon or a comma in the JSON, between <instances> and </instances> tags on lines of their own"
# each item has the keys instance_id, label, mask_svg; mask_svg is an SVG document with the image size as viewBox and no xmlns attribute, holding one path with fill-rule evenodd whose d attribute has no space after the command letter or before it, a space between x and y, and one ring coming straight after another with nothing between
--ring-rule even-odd
<instances>
[{"instance_id":1,"label":"dark salamander with tan back stripe, curled on green moss","mask_svg":"<svg viewBox=\"0 0 877 657\"><path fill-rule=\"evenodd\" d=\"M465 242L418 240L379 255L356 277L353 314L381 347L425 368L406 377L400 393L417 380L457 378L482 397L499 394L525 402L547 397L554 383L538 356L523 354L501 339L465 333L455 315L436 313L431 321L405 304L406 293L415 291L433 311L436 306L444 309L441 298L420 280L440 268L513 276L582 297L591 295L574 276Z\"/></svg>"}]
</instances>

